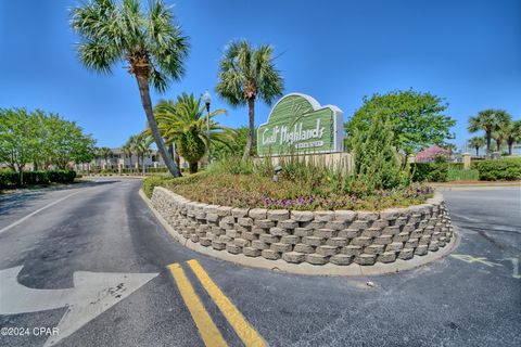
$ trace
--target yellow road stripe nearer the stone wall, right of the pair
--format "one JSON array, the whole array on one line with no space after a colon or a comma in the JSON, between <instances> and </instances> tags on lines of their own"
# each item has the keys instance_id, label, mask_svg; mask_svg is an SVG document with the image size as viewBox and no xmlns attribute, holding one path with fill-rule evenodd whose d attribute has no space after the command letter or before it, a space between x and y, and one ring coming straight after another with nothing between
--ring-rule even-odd
<instances>
[{"instance_id":1,"label":"yellow road stripe nearer the stone wall, right of the pair","mask_svg":"<svg viewBox=\"0 0 521 347\"><path fill-rule=\"evenodd\" d=\"M209 275L204 271L203 267L199 264L198 260L192 259L187 261L193 273L198 277L201 284L204 286L209 296L214 299L217 307L220 309L223 314L226 317L228 322L242 339L245 346L266 346L263 337L253 329L252 325L246 321L242 313L237 309L237 307L226 297L225 294L220 291L217 284L209 278Z\"/></svg>"}]
</instances>

